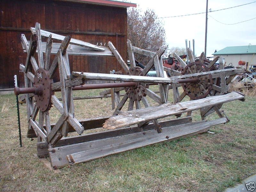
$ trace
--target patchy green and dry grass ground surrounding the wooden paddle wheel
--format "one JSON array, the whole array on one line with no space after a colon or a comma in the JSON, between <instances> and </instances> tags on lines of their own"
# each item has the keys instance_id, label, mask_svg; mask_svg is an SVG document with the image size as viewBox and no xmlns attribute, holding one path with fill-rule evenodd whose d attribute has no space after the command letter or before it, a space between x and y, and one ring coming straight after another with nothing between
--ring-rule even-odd
<instances>
[{"instance_id":1,"label":"patchy green and dry grass ground surrounding the wooden paddle wheel","mask_svg":"<svg viewBox=\"0 0 256 192\"><path fill-rule=\"evenodd\" d=\"M98 93L98 90L76 92L75 96ZM113 112L109 98L76 100L75 105L78 119ZM23 141L20 148L16 98L1 95L0 188L8 192L224 191L256 173L256 97L226 103L222 109L231 121L212 127L216 134L159 143L53 173L33 157L36 139L26 138L26 105L20 106ZM60 115L54 108L50 112L56 121ZM199 119L197 111L193 116Z\"/></svg>"}]
</instances>

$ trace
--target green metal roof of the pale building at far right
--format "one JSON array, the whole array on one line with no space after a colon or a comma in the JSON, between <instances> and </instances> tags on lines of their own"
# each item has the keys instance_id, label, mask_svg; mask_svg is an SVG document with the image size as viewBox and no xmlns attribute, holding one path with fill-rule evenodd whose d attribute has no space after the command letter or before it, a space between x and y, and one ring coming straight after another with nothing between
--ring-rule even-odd
<instances>
[{"instance_id":1,"label":"green metal roof of the pale building at far right","mask_svg":"<svg viewBox=\"0 0 256 192\"><path fill-rule=\"evenodd\" d=\"M213 53L213 55L230 55L230 54L253 54L256 53L256 45L226 47Z\"/></svg>"}]
</instances>

